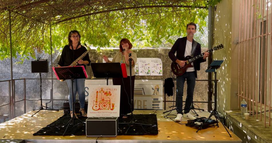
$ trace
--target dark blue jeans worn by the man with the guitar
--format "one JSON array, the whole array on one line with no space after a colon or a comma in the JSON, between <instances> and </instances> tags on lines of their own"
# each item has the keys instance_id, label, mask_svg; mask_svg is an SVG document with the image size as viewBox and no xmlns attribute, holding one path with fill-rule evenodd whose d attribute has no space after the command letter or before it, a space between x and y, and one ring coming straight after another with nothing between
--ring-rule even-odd
<instances>
[{"instance_id":1,"label":"dark blue jeans worn by the man with the guitar","mask_svg":"<svg viewBox=\"0 0 272 143\"><path fill-rule=\"evenodd\" d=\"M176 92L176 110L178 114L182 114L183 105L183 88L185 79L187 80L187 97L185 101L184 114L189 113L193 102L194 88L196 84L195 72L185 72L181 76L177 76L177 92Z\"/></svg>"}]
</instances>

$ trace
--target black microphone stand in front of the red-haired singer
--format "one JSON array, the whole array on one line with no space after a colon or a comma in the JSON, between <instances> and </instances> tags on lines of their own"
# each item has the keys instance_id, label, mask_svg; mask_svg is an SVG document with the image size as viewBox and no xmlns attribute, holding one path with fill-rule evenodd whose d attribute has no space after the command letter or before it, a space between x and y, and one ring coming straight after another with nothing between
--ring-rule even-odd
<instances>
[{"instance_id":1,"label":"black microphone stand in front of the red-haired singer","mask_svg":"<svg viewBox=\"0 0 272 143\"><path fill-rule=\"evenodd\" d=\"M125 50L124 50L125 51ZM131 81L131 53L129 53L129 82L130 82L130 98L131 98L131 103L130 103L130 110L131 110L131 119L129 123L119 123L119 124L129 124L129 128L131 126L133 126L134 124L137 125L146 125L146 126L152 126L151 124L141 124L141 123L135 123L135 121L133 121L132 117L134 117L133 112L132 112L132 103L133 103L133 99L132 99L132 81ZM139 122L139 121L138 121ZM127 128L127 131L129 130L129 128ZM127 131L125 132L125 135L127 134Z\"/></svg>"}]
</instances>

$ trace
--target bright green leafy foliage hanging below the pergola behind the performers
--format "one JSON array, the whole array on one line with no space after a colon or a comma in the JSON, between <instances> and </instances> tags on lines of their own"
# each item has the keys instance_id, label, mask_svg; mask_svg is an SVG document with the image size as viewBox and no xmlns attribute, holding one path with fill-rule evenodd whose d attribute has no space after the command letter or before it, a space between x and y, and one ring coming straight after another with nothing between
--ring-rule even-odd
<instances>
[{"instance_id":1,"label":"bright green leafy foliage hanging below the pergola behind the performers","mask_svg":"<svg viewBox=\"0 0 272 143\"><path fill-rule=\"evenodd\" d=\"M208 10L200 6L216 5L221 0L184 1L183 5L192 7L156 7L110 11L88 15L57 23L58 15L51 21L37 21L24 15L11 12L12 55L21 55L22 60L35 58L34 49L51 52L52 48L61 50L68 44L67 36L71 30L78 30L81 43L97 47L118 47L122 38L129 39L134 47L172 47L177 37L186 35L186 24L197 23L199 32L206 27ZM174 5L174 3L173 3ZM106 9L107 10L107 9ZM78 11L86 12L86 11ZM89 12L90 13L90 12ZM10 57L9 11L4 10L0 17L0 59ZM20 20L18 20L20 19ZM48 24L50 23L50 24Z\"/></svg>"}]
</instances>

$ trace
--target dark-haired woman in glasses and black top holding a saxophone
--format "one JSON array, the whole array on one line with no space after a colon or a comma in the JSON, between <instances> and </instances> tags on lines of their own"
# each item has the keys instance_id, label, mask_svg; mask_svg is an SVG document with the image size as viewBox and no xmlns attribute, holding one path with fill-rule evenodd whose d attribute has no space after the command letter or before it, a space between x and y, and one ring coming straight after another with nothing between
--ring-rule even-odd
<instances>
[{"instance_id":1,"label":"dark-haired woman in glasses and black top holding a saxophone","mask_svg":"<svg viewBox=\"0 0 272 143\"><path fill-rule=\"evenodd\" d=\"M80 45L80 34L76 30L72 30L68 35L68 43L69 45L64 46L60 60L58 62L59 67L69 66L73 61L75 61L78 57L80 57L85 51L87 51L86 47ZM83 65L86 69L86 65L90 65L90 58L87 54L83 59L78 61L78 65ZM69 94L69 105L70 105L70 114L72 115L72 81L66 80L67 85L70 90ZM76 101L76 92L79 95L79 104L80 104L80 114L82 116L87 117L87 114L84 110L85 104L85 79L74 79L73 83L73 91L74 91L74 101ZM75 115L77 118L77 116Z\"/></svg>"}]
</instances>

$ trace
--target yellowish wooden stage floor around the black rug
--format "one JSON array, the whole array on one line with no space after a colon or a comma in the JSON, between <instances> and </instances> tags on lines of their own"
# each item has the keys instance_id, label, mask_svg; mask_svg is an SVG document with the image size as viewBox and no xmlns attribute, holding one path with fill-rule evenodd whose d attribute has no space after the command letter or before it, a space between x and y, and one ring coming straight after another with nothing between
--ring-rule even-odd
<instances>
[{"instance_id":1,"label":"yellowish wooden stage floor around the black rug","mask_svg":"<svg viewBox=\"0 0 272 143\"><path fill-rule=\"evenodd\" d=\"M133 114L156 114L159 134L143 136L117 136L117 137L86 137L86 136L33 136L48 124L63 116L63 110L48 111L42 110L31 117L36 111L30 111L19 117L0 124L1 140L25 140L25 142L242 142L235 134L228 130L228 135L223 125L219 128L206 128L196 133L196 128L188 127L185 124L178 124L170 119L163 118L167 113L164 110L134 110ZM154 113L155 112L155 113ZM176 111L171 114L176 115ZM208 112L198 112L202 117L208 117ZM173 117L173 116L169 116ZM174 119L174 118L173 118ZM183 118L182 122L186 123Z\"/></svg>"}]
</instances>

